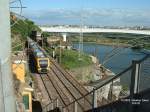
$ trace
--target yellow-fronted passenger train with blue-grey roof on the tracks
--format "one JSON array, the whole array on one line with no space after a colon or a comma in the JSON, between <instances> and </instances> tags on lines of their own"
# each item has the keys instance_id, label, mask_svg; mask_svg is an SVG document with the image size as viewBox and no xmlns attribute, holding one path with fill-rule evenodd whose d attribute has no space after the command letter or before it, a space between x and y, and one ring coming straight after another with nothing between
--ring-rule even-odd
<instances>
[{"instance_id":1,"label":"yellow-fronted passenger train with blue-grey roof on the tracks","mask_svg":"<svg viewBox=\"0 0 150 112\"><path fill-rule=\"evenodd\" d=\"M36 42L28 38L28 48L33 57L34 68L38 73L47 73L50 68L50 60Z\"/></svg>"}]
</instances>

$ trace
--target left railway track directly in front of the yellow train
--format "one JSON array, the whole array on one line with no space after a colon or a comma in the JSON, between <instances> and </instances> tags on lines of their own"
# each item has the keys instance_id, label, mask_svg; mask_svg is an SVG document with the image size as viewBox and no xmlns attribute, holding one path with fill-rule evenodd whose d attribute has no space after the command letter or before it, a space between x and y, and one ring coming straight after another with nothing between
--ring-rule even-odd
<instances>
[{"instance_id":1,"label":"left railway track directly in front of the yellow train","mask_svg":"<svg viewBox=\"0 0 150 112\"><path fill-rule=\"evenodd\" d=\"M56 82L52 74L37 74L37 75L38 75L37 77L40 77L44 85L44 88L42 88L42 91L45 90L48 94L49 103L45 104L49 106L48 108L50 109L54 108L52 107L51 104L56 99L59 100L58 102L59 107L66 106L67 104L70 103L68 96L64 93L64 90L60 88L60 86L58 85L58 83ZM43 106L43 107L45 108L46 106ZM67 112L71 112L71 110L67 109Z\"/></svg>"}]
</instances>

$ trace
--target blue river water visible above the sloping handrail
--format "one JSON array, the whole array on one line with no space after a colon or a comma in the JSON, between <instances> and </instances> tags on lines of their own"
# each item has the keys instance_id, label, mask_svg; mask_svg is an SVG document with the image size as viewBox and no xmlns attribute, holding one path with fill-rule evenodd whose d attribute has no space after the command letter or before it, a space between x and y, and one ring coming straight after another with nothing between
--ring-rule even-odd
<instances>
[{"instance_id":1,"label":"blue river water visible above the sloping handrail","mask_svg":"<svg viewBox=\"0 0 150 112\"><path fill-rule=\"evenodd\" d=\"M73 48L78 49L79 44L74 43ZM122 70L127 68L131 65L132 60L138 60L144 57L145 55L137 50L132 50L130 48L119 47L113 53L110 53L115 47L113 46L106 46L106 45L99 45L99 44L91 44L91 43L84 43L83 44L83 51L88 54L97 55L99 62L102 63L105 61L104 66L114 73L120 73ZM96 51L96 53L95 53ZM111 54L116 54L113 57ZM111 58L106 58L110 56ZM104 58L105 57L105 58Z\"/></svg>"}]
</instances>

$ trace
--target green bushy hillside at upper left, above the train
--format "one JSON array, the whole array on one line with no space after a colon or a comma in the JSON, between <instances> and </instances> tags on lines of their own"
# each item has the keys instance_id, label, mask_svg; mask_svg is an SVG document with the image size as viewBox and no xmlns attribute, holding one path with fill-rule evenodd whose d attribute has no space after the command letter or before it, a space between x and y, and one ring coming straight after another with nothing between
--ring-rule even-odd
<instances>
[{"instance_id":1,"label":"green bushy hillside at upper left, above the train","mask_svg":"<svg viewBox=\"0 0 150 112\"><path fill-rule=\"evenodd\" d=\"M15 23L15 24L14 24ZM28 19L19 19L11 20L11 37L12 37L12 50L18 51L22 50L27 36L31 34L31 31L36 30L40 31L39 27L34 24L34 22Z\"/></svg>"}]
</instances>

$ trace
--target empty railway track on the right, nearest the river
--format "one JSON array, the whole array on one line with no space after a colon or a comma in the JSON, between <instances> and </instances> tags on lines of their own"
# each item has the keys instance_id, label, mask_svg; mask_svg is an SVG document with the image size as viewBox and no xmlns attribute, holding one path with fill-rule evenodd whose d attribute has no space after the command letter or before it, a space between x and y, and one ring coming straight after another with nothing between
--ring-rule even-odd
<instances>
[{"instance_id":1,"label":"empty railway track on the right, nearest the river","mask_svg":"<svg viewBox=\"0 0 150 112\"><path fill-rule=\"evenodd\" d=\"M62 69L54 60L52 60L51 63L51 72L53 72L55 79L61 83L60 85L66 88L66 93L68 92L71 95L72 101L88 93L83 86L81 86L67 71ZM87 110L92 107L92 96L87 96L77 103L82 111Z\"/></svg>"}]
</instances>

